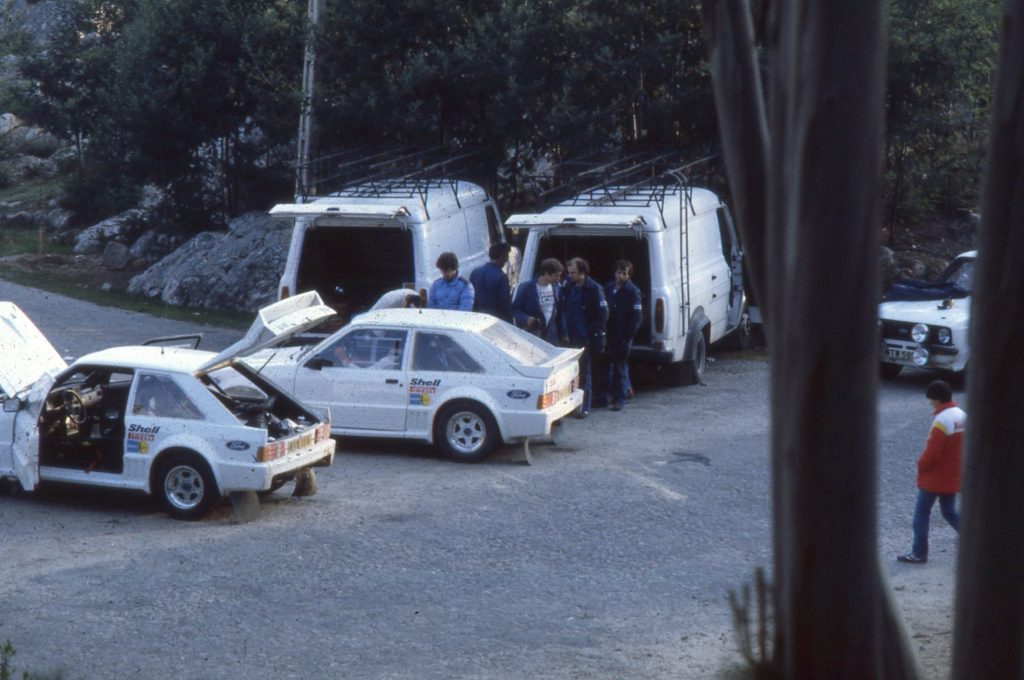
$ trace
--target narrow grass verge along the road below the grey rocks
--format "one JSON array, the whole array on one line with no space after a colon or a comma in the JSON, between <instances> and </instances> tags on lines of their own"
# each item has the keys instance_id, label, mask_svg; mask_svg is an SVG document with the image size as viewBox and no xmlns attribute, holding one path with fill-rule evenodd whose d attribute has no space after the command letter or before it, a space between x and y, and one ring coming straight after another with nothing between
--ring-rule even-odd
<instances>
[{"instance_id":1,"label":"narrow grass verge along the road below the grey rocks","mask_svg":"<svg viewBox=\"0 0 1024 680\"><path fill-rule=\"evenodd\" d=\"M150 300L117 291L103 291L74 281L62 281L50 273L24 271L3 263L0 263L0 279L9 281L12 284L18 284L19 286L38 288L104 307L118 307L119 309L138 311L160 318L244 330L252 325L255 317L255 313L252 311L178 307L160 300Z\"/></svg>"}]
</instances>

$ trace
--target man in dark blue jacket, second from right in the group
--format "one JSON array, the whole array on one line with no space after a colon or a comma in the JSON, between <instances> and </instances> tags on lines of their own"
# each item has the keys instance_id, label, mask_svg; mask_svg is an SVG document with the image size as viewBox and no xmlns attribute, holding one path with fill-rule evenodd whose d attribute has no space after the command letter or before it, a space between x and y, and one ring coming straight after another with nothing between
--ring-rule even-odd
<instances>
[{"instance_id":1,"label":"man in dark blue jacket, second from right in the group","mask_svg":"<svg viewBox=\"0 0 1024 680\"><path fill-rule=\"evenodd\" d=\"M580 355L580 386L583 407L579 418L590 415L593 385L591 359L602 356L605 348L604 330L608 324L608 303L604 291L590 278L590 265L582 257L573 257L565 266L569 283L562 289L559 330L562 344L583 347Z\"/></svg>"}]
</instances>

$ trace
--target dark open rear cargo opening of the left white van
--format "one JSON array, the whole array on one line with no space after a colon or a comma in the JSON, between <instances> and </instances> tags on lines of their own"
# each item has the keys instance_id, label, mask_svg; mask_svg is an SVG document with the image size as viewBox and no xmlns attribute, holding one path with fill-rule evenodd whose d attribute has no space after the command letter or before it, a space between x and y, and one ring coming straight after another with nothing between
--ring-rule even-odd
<instances>
[{"instance_id":1,"label":"dark open rear cargo opening of the left white van","mask_svg":"<svg viewBox=\"0 0 1024 680\"><path fill-rule=\"evenodd\" d=\"M297 279L297 291L315 290L344 323L385 292L415 283L413 235L392 226L311 227Z\"/></svg>"}]
</instances>

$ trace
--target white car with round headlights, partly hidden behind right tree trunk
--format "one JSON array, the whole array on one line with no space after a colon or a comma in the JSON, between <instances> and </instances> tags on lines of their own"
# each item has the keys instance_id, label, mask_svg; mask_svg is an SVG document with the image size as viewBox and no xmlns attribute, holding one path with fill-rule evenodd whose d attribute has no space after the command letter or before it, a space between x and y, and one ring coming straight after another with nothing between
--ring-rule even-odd
<instances>
[{"instance_id":1,"label":"white car with round headlights, partly hidden behind right tree trunk","mask_svg":"<svg viewBox=\"0 0 1024 680\"><path fill-rule=\"evenodd\" d=\"M900 282L879 305L882 376L903 367L967 370L971 358L971 287L976 251L957 255L935 282Z\"/></svg>"}]
</instances>

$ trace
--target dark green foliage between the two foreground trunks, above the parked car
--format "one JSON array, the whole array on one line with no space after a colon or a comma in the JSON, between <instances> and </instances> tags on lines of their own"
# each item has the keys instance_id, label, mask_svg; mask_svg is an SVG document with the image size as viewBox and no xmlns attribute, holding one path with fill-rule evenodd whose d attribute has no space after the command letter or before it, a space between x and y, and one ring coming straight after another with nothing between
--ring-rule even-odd
<instances>
[{"instance_id":1,"label":"dark green foliage between the two foreground trunks, above the parked car","mask_svg":"<svg viewBox=\"0 0 1024 680\"><path fill-rule=\"evenodd\" d=\"M890 5L884 218L894 238L980 198L997 5ZM892 245L892 242L890 242Z\"/></svg>"}]
</instances>

